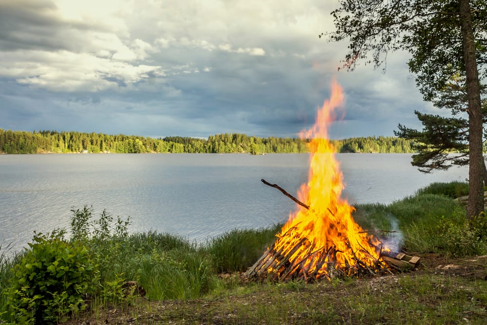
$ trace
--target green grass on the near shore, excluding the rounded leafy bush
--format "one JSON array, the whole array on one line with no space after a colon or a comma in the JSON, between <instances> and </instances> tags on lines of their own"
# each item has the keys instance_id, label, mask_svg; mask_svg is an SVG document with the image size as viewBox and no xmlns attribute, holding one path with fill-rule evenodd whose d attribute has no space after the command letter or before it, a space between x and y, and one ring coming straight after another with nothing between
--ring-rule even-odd
<instances>
[{"instance_id":1,"label":"green grass on the near shore, excluding the rounded leafy bush","mask_svg":"<svg viewBox=\"0 0 487 325\"><path fill-rule=\"evenodd\" d=\"M434 183L389 205L359 204L354 219L368 231L397 231L383 233L382 239L399 241L407 252L452 258L485 254L485 231L467 224L465 207L453 200L465 195L464 191L463 183ZM461 321L462 315L473 323L485 319L485 311L480 312L480 306L487 303L485 283L436 273L388 278L384 280L387 286L380 278L314 285L243 282L239 272L272 245L282 225L235 229L197 244L184 236L155 231L128 235L123 226L116 231L108 226L110 216L102 215L101 221L89 223L89 209L76 212L84 214L81 222L74 223L82 232L79 243L91 252L99 271L99 283L91 297L92 316L85 318L100 320L106 317L105 311L115 310L135 318L152 315L140 324L185 324L195 315L199 315L196 323L225 324L403 324L401 319L453 324ZM101 224L107 226L93 228ZM7 258L4 252L0 249L0 323L14 320L7 312L4 290L10 286L11 268L19 262L18 257ZM141 303L121 289L126 281L137 281L150 301L178 303L164 305L164 311L156 303ZM167 317L156 317L156 313Z\"/></svg>"}]
</instances>

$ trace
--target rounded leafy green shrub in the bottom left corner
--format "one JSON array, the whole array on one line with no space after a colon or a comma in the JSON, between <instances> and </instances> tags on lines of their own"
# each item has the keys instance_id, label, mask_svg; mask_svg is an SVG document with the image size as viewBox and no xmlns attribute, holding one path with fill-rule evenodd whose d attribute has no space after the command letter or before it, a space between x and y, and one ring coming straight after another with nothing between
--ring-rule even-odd
<instances>
[{"instance_id":1,"label":"rounded leafy green shrub in the bottom left corner","mask_svg":"<svg viewBox=\"0 0 487 325\"><path fill-rule=\"evenodd\" d=\"M30 250L13 269L7 304L20 323L63 320L86 307L97 284L97 270L88 250L64 240L65 231L35 233Z\"/></svg>"}]
</instances>

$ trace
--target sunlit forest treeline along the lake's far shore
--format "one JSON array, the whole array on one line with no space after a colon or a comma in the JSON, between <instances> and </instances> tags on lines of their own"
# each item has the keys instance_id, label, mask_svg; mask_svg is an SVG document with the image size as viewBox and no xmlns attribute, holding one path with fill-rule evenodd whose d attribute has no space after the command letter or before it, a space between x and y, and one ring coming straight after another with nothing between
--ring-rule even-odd
<instances>
[{"instance_id":1,"label":"sunlit forest treeline along the lake's far shore","mask_svg":"<svg viewBox=\"0 0 487 325\"><path fill-rule=\"evenodd\" d=\"M412 152L411 142L396 137L350 138L332 141L338 152ZM240 133L190 137L149 138L103 133L12 131L0 128L0 153L302 153L306 140L255 137Z\"/></svg>"}]
</instances>

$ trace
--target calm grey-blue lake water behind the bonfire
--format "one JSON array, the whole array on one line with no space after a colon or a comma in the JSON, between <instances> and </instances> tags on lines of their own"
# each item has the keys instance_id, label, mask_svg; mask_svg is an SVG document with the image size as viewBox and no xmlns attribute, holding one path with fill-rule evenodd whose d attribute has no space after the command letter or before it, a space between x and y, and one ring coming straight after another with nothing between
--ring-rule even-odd
<instances>
[{"instance_id":1,"label":"calm grey-blue lake water behind the bonfire","mask_svg":"<svg viewBox=\"0 0 487 325\"><path fill-rule=\"evenodd\" d=\"M234 228L286 220L307 180L307 154L0 155L0 244L25 246L33 231L69 228L71 208L131 216L131 232L203 241ZM391 203L433 181L463 181L467 168L425 175L408 154L338 154L351 204Z\"/></svg>"}]
</instances>

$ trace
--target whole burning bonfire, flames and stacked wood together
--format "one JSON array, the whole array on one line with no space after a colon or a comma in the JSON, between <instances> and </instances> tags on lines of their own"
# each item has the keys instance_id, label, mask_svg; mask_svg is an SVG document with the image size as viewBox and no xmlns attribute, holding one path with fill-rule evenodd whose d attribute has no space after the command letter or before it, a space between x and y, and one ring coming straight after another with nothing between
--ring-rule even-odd
<instances>
[{"instance_id":1,"label":"whole burning bonfire, flames and stacked wood together","mask_svg":"<svg viewBox=\"0 0 487 325\"><path fill-rule=\"evenodd\" d=\"M298 199L262 180L294 199L300 208L290 215L274 245L247 270L246 277L309 282L375 275L393 268L381 256L389 250L355 223L354 208L340 197L343 177L335 148L327 140L327 126L342 102L343 92L333 83L331 98L318 110L315 125L301 133L301 138L311 139L311 156L308 183L301 185Z\"/></svg>"}]
</instances>

